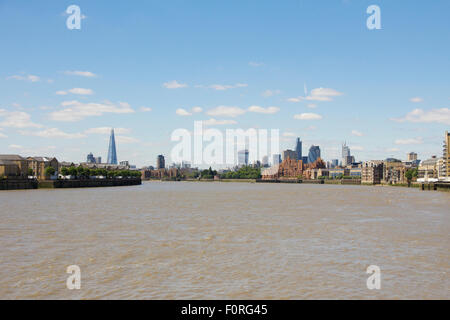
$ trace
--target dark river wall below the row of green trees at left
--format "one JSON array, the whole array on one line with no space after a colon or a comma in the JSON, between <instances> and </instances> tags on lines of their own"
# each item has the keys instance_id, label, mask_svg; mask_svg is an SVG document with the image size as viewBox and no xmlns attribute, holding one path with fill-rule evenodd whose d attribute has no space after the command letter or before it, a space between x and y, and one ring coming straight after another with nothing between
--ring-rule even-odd
<instances>
[{"instance_id":1,"label":"dark river wall below the row of green trees at left","mask_svg":"<svg viewBox=\"0 0 450 320\"><path fill-rule=\"evenodd\" d=\"M122 187L142 184L140 178L134 179L92 179L92 180L46 180L39 181L39 188L99 188L99 187Z\"/></svg>"}]
</instances>

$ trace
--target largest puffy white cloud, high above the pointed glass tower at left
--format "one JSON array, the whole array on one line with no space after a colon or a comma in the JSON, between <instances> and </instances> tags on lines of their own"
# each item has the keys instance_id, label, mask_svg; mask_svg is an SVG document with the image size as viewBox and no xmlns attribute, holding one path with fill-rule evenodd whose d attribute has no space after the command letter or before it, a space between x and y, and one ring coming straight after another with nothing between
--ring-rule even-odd
<instances>
[{"instance_id":1,"label":"largest puffy white cloud, high above the pointed glass tower at left","mask_svg":"<svg viewBox=\"0 0 450 320\"><path fill-rule=\"evenodd\" d=\"M54 121L74 122L86 117L98 117L105 113L127 114L134 110L126 102L118 105L111 102L104 103L82 103L77 100L64 101L61 103L64 109L50 113L50 119Z\"/></svg>"}]
</instances>

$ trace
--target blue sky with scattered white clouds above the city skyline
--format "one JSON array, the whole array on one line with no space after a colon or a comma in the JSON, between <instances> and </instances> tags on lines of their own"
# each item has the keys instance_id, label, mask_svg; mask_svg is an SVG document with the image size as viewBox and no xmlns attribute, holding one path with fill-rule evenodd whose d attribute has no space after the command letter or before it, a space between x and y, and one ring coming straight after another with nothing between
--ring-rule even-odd
<instances>
[{"instance_id":1,"label":"blue sky with scattered white clouds above the city skyline","mask_svg":"<svg viewBox=\"0 0 450 320\"><path fill-rule=\"evenodd\" d=\"M81 9L69 29L66 9ZM378 5L381 29L366 24ZM450 131L450 1L0 0L0 154L170 163L174 130L279 129L322 158L420 159Z\"/></svg>"}]
</instances>

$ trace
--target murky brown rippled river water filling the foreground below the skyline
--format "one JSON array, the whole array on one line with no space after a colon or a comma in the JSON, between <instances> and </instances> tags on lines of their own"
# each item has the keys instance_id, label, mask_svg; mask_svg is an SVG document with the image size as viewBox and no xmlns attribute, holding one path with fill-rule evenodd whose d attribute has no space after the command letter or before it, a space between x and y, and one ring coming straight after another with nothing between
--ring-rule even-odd
<instances>
[{"instance_id":1,"label":"murky brown rippled river water filling the foreground below the skyline","mask_svg":"<svg viewBox=\"0 0 450 320\"><path fill-rule=\"evenodd\" d=\"M0 299L450 299L450 193L150 182L0 192ZM81 289L66 288L66 268ZM366 269L381 269L369 290Z\"/></svg>"}]
</instances>

